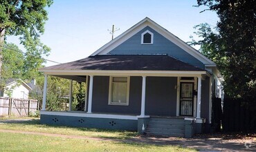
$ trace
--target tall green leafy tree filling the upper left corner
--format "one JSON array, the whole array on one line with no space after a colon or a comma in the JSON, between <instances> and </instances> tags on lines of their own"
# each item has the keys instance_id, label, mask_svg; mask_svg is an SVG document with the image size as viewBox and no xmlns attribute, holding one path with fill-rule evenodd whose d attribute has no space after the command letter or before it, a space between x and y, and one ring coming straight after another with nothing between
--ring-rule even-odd
<instances>
[{"instance_id":1,"label":"tall green leafy tree filling the upper left corner","mask_svg":"<svg viewBox=\"0 0 256 152\"><path fill-rule=\"evenodd\" d=\"M36 68L42 64L42 55L48 55L50 48L39 40L44 32L44 23L48 19L45 8L52 0L1 0L0 2L0 77L1 52L6 35L19 36L20 43L26 48L26 55ZM38 58L37 61L33 59ZM30 70L28 70L30 72Z\"/></svg>"}]
</instances>

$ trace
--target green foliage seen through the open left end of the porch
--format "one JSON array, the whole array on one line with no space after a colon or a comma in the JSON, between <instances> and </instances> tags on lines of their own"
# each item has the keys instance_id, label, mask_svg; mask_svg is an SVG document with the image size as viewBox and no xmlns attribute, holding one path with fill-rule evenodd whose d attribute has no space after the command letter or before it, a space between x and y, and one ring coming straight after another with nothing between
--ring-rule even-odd
<instances>
[{"instance_id":1,"label":"green foliage seen through the open left end of the porch","mask_svg":"<svg viewBox=\"0 0 256 152\"><path fill-rule=\"evenodd\" d=\"M38 77L37 86L41 93L30 94L30 97L37 99L42 105L42 95L44 90L44 77ZM67 111L69 101L69 86L68 79L60 77L48 76L47 81L47 95L46 95L46 110L48 111ZM85 99L85 84L73 82L73 101L72 110L84 111L84 99ZM82 106L82 108L81 108ZM79 108L78 108L79 107Z\"/></svg>"}]
</instances>

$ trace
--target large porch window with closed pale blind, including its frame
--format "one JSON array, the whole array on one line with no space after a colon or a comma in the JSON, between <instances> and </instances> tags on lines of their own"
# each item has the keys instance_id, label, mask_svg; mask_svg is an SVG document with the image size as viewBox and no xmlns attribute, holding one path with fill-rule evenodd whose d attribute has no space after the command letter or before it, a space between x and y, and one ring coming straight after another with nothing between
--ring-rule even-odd
<instances>
[{"instance_id":1,"label":"large porch window with closed pale blind, including its frame","mask_svg":"<svg viewBox=\"0 0 256 152\"><path fill-rule=\"evenodd\" d=\"M129 77L110 77L109 104L129 105Z\"/></svg>"}]
</instances>

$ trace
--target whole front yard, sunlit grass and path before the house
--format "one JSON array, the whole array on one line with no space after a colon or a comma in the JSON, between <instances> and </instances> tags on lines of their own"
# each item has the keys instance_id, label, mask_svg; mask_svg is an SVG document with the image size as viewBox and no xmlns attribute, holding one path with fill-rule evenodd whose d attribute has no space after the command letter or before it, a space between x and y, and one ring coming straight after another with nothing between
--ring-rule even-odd
<instances>
[{"instance_id":1,"label":"whole front yard, sunlit grass and path before the house","mask_svg":"<svg viewBox=\"0 0 256 152\"><path fill-rule=\"evenodd\" d=\"M256 134L205 134L192 139L148 137L0 118L0 151L255 151Z\"/></svg>"}]
</instances>

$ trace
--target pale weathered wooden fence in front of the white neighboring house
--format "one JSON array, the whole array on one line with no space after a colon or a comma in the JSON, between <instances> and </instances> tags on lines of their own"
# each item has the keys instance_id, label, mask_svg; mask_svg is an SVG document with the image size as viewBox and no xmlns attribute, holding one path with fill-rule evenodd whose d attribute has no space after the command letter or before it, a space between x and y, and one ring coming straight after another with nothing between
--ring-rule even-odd
<instances>
[{"instance_id":1,"label":"pale weathered wooden fence in front of the white neighboring house","mask_svg":"<svg viewBox=\"0 0 256 152\"><path fill-rule=\"evenodd\" d=\"M0 97L0 116L15 115L28 116L35 115L39 108L39 103L35 99L15 99Z\"/></svg>"}]
</instances>

